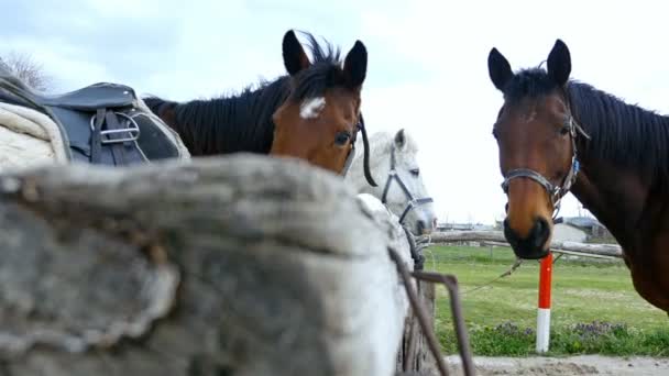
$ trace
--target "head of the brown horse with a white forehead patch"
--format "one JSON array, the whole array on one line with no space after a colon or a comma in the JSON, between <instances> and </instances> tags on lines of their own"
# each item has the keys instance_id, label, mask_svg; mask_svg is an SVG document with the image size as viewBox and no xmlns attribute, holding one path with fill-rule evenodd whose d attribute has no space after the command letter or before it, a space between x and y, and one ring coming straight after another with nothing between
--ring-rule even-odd
<instances>
[{"instance_id":1,"label":"head of the brown horse with a white forehead patch","mask_svg":"<svg viewBox=\"0 0 669 376\"><path fill-rule=\"evenodd\" d=\"M360 92L366 75L368 52L360 41L355 42L342 66L339 51L330 45L323 51L311 35L309 42L314 62L293 31L284 36L283 56L290 75L290 93L274 113L270 154L306 159L341 174L358 131L363 131L366 139Z\"/></svg>"}]
</instances>

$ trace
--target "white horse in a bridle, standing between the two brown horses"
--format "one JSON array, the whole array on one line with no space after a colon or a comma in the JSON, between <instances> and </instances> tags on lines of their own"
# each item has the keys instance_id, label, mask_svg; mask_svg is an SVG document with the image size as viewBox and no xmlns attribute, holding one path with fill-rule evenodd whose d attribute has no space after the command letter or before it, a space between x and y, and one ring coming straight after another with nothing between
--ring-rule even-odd
<instances>
[{"instance_id":1,"label":"white horse in a bridle, standing between the two brown horses","mask_svg":"<svg viewBox=\"0 0 669 376\"><path fill-rule=\"evenodd\" d=\"M361 143L359 139L357 151L363 150ZM370 170L379 186L370 186L364 178L360 152L351 162L346 183L358 193L380 199L414 235L423 235L435 229L437 217L420 176L417 153L416 141L404 130L395 136L386 132L374 133L370 136Z\"/></svg>"}]
</instances>

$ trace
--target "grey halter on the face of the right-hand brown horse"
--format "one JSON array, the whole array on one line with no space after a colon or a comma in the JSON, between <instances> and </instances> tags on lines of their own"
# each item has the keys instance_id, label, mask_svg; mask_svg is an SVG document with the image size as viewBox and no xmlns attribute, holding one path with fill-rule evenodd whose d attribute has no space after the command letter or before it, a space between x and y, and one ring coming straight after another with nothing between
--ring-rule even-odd
<instances>
[{"instance_id":1,"label":"grey halter on the face of the right-hand brown horse","mask_svg":"<svg viewBox=\"0 0 669 376\"><path fill-rule=\"evenodd\" d=\"M567 113L568 113L567 114L567 126L569 129L569 136L571 139L572 155L571 155L571 167L569 168L569 173L562 179L562 184L553 185L552 183L550 183L550 180L548 180L541 174L539 174L530 168L511 169L511 170L506 172L506 174L504 175L504 181L502 183L502 190L504 190L504 193L506 193L506 195L508 195L508 185L511 184L512 179L524 177L524 178L528 178L528 179L531 179L531 180L535 180L536 183L538 183L541 187L544 187L544 189L546 189L546 192L548 192L548 197L550 198L550 203L552 204L552 208L553 208L553 214L552 214L553 220L557 218L558 213L560 212L560 203L562 201L562 198L564 197L564 195L567 195L569 192L569 190L571 189L573 184L577 181L577 176L579 175L579 170L581 169L581 164L579 163L578 154L577 154L577 136L579 134L581 134L585 139L590 140L590 135L588 135L588 133L585 133L583 128L581 125L579 125L579 123L574 120L569 106L567 106Z\"/></svg>"}]
</instances>

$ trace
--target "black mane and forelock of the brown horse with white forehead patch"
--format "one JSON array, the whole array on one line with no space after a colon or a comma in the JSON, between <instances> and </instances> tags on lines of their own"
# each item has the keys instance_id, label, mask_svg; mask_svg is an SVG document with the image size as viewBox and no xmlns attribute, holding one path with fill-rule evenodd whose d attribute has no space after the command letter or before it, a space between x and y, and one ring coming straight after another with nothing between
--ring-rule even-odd
<instances>
[{"instance_id":1,"label":"black mane and forelock of the brown horse with white forehead patch","mask_svg":"<svg viewBox=\"0 0 669 376\"><path fill-rule=\"evenodd\" d=\"M325 96L328 89L346 87L340 51L325 41L319 44L309 33L311 65L290 79L281 76L239 95L176 103L156 97L145 98L156 114L164 106L174 110L175 131L193 155L252 152L267 154L274 139L272 115L286 100Z\"/></svg>"}]
</instances>

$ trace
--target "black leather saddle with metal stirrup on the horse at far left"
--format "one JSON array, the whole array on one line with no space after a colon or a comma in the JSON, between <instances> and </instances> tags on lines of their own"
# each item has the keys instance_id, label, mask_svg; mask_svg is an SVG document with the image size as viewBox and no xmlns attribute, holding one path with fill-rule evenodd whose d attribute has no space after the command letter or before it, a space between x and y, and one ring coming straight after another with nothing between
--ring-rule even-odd
<instances>
[{"instance_id":1,"label":"black leather saddle with metal stirrup on the horse at far left","mask_svg":"<svg viewBox=\"0 0 669 376\"><path fill-rule=\"evenodd\" d=\"M69 144L70 161L122 166L180 156L163 131L167 125L140 108L134 90L124 85L100 82L43 96L0 67L0 102L48 115Z\"/></svg>"}]
</instances>

